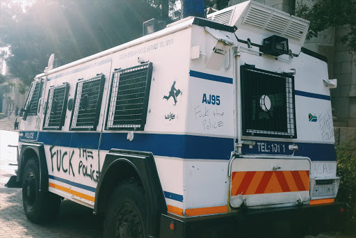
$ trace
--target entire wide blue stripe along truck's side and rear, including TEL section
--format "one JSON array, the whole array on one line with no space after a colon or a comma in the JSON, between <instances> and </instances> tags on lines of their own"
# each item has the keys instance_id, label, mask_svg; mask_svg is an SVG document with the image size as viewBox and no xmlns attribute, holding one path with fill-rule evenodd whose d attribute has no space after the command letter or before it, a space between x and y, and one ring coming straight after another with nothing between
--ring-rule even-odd
<instances>
[{"instance_id":1,"label":"entire wide blue stripe along truck's side and rear, including TEL section","mask_svg":"<svg viewBox=\"0 0 356 238\"><path fill-rule=\"evenodd\" d=\"M22 132L24 133L24 132ZM58 145L69 148L97 149L99 145L99 132L40 132L38 141L45 145ZM270 149L262 149L258 143L267 143ZM279 151L273 151L271 144L280 145ZM294 155L309 157L313 161L335 161L336 152L333 144L326 143L300 143L299 150ZM243 145L243 154L285 154L291 155L289 145L293 142L283 141L256 141L256 145L249 148ZM284 150L282 150L284 145ZM260 146L260 147L259 147ZM191 136L175 134L147 134L136 133L133 141L127 140L127 133L105 132L102 134L100 150L148 151L154 155L177 157L182 159L223 159L229 160L234 150L233 138L219 138L209 136ZM265 147L263 147L265 148Z\"/></svg>"}]
</instances>

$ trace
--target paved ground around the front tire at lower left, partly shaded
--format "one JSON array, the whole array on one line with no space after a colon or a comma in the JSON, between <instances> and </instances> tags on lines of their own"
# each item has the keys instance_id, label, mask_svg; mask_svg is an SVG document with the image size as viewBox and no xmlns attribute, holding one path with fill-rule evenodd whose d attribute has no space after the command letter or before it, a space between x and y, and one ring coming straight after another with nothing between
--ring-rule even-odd
<instances>
[{"instance_id":1,"label":"paved ground around the front tire at lower left, partly shaded","mask_svg":"<svg viewBox=\"0 0 356 238\"><path fill-rule=\"evenodd\" d=\"M63 200L55 221L35 225L24 214L21 189L0 188L1 237L101 238L102 223L102 217L94 216L92 209Z\"/></svg>"}]
</instances>

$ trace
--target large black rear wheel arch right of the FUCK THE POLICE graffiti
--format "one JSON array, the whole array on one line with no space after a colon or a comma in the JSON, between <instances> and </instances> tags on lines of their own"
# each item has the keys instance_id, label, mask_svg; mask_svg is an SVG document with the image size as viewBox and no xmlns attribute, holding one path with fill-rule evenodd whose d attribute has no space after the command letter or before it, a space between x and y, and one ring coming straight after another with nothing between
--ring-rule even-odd
<instances>
[{"instance_id":1,"label":"large black rear wheel arch right of the FUCK THE POLICE graffiti","mask_svg":"<svg viewBox=\"0 0 356 238\"><path fill-rule=\"evenodd\" d=\"M147 234L156 237L159 235L161 214L167 213L167 205L150 152L110 150L106 154L95 191L94 213L104 213L115 186L130 177L137 177L143 184L147 200Z\"/></svg>"}]
</instances>

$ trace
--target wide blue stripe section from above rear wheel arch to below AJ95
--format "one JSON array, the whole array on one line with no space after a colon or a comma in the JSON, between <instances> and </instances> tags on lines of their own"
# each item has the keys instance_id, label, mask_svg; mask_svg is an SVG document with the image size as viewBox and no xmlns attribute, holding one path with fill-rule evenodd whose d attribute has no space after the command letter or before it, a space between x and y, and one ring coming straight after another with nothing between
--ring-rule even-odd
<instances>
[{"instance_id":1,"label":"wide blue stripe section from above rear wheel arch to below AJ95","mask_svg":"<svg viewBox=\"0 0 356 238\"><path fill-rule=\"evenodd\" d=\"M184 159L229 159L234 150L234 139L137 133L133 141L129 141L127 133L103 133L100 148L149 151L156 155Z\"/></svg>"}]
</instances>

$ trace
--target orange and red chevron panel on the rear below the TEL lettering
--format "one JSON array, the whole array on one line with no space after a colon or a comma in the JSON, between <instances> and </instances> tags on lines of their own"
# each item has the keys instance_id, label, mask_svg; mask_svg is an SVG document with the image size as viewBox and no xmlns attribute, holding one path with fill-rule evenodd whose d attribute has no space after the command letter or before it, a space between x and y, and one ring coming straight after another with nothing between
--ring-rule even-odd
<instances>
[{"instance_id":1,"label":"orange and red chevron panel on the rear below the TEL lettering","mask_svg":"<svg viewBox=\"0 0 356 238\"><path fill-rule=\"evenodd\" d=\"M231 196L309 191L309 170L232 173Z\"/></svg>"}]
</instances>

